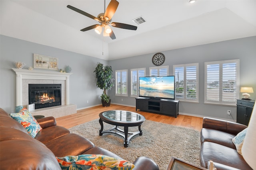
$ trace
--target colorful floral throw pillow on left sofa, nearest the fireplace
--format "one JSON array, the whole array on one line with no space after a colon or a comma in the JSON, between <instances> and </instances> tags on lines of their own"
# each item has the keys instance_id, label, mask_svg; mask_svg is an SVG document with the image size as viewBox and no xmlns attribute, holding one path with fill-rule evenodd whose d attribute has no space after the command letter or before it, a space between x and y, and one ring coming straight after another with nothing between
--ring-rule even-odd
<instances>
[{"instance_id":1,"label":"colorful floral throw pillow on left sofa, nearest the fireplace","mask_svg":"<svg viewBox=\"0 0 256 170\"><path fill-rule=\"evenodd\" d=\"M19 113L10 113L10 116L18 121L33 138L42 130L34 116L26 108L23 108Z\"/></svg>"}]
</instances>

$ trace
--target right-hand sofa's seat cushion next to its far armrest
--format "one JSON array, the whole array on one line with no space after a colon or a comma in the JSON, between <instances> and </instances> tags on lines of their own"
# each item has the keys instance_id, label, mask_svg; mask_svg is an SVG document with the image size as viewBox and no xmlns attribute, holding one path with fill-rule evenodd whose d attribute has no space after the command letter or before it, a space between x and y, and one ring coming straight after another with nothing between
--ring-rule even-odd
<instances>
[{"instance_id":1,"label":"right-hand sofa's seat cushion next to its far armrest","mask_svg":"<svg viewBox=\"0 0 256 170\"><path fill-rule=\"evenodd\" d=\"M201 134L200 134L201 144L203 142L213 142L213 143L218 143L220 145L224 145L232 149L236 149L236 146L232 142L232 139L234 137L235 135L232 135L230 133L227 133L224 131L218 131L215 129L208 129L208 128L202 128Z\"/></svg>"}]
</instances>

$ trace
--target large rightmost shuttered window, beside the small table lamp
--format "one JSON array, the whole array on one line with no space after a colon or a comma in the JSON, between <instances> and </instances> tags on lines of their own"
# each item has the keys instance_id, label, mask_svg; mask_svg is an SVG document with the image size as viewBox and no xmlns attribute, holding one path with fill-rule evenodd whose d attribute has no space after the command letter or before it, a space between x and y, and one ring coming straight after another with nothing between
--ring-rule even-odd
<instances>
[{"instance_id":1,"label":"large rightmost shuttered window, beside the small table lamp","mask_svg":"<svg viewBox=\"0 0 256 170\"><path fill-rule=\"evenodd\" d=\"M236 105L239 60L206 62L204 67L204 102Z\"/></svg>"}]
</instances>

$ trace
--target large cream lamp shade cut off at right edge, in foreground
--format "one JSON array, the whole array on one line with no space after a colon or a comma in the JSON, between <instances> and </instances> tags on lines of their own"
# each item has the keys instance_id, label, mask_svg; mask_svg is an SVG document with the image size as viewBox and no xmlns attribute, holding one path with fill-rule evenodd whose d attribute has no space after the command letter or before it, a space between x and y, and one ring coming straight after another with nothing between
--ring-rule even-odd
<instances>
[{"instance_id":1,"label":"large cream lamp shade cut off at right edge, in foreground","mask_svg":"<svg viewBox=\"0 0 256 170\"><path fill-rule=\"evenodd\" d=\"M252 110L252 115L248 124L247 133L244 138L244 144L242 146L242 155L248 165L256 170L256 107Z\"/></svg>"}]
</instances>

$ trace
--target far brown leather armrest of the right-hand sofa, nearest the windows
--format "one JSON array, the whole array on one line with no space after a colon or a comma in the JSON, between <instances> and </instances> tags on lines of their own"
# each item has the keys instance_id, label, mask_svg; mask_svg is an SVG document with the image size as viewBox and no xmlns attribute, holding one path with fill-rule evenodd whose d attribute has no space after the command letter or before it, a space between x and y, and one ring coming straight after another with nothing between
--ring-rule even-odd
<instances>
[{"instance_id":1,"label":"far brown leather armrest of the right-hand sofa, nearest the windows","mask_svg":"<svg viewBox=\"0 0 256 170\"><path fill-rule=\"evenodd\" d=\"M216 129L218 131L223 131L237 135L239 132L244 130L247 126L240 123L235 123L232 121L225 121L221 119L215 119L211 117L204 117L203 128Z\"/></svg>"}]
</instances>

